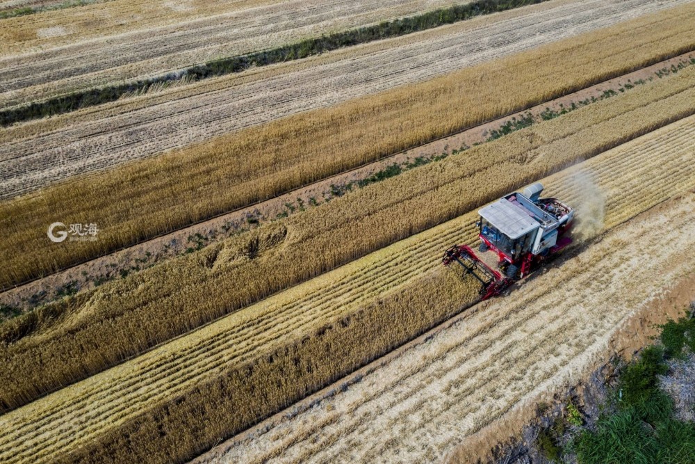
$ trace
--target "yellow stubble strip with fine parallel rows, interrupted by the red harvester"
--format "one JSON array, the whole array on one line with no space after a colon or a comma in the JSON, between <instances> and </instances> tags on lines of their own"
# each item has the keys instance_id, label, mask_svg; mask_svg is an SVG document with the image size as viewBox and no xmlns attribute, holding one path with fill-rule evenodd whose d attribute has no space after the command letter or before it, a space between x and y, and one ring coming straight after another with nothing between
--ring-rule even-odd
<instances>
[{"instance_id":1,"label":"yellow stubble strip with fine parallel rows, interrupted by the red harvester","mask_svg":"<svg viewBox=\"0 0 695 464\"><path fill-rule=\"evenodd\" d=\"M675 193L695 187L695 167L689 162L694 157L694 120L691 117L676 122L543 182L550 193L564 186L568 192L564 198L577 204L585 195L583 179L590 176L607 200L614 202L614 209L607 211L605 227L626 221ZM657 166L644 168L644 164ZM651 182L655 172L669 173L669 182ZM641 195L632 198L632 191L641 191ZM9 431L0 438L0 449L6 450L0 458L10 462L51 459L61 449L74 449L123 424L141 413L145 403L177 397L219 375L232 362L257 356L254 350L270 352L289 339L301 338L311 327L357 310L379 294L396 291L438 269L441 250L449 244L461 239L473 241L474 217L466 214L395 243L0 416L1 429ZM692 221L689 226L686 219L682 221L682 227L693 227ZM669 239L676 235L673 243L683 237L689 239L687 233L678 234L679 227L680 223L667 231ZM635 243L649 246L641 240ZM595 275L589 277L598 282Z\"/></svg>"}]
</instances>

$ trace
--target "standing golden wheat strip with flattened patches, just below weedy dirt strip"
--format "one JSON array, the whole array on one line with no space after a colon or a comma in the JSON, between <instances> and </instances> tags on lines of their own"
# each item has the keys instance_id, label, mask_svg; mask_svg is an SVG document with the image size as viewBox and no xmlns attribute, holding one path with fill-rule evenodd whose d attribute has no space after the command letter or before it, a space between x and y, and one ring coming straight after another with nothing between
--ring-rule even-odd
<instances>
[{"instance_id":1,"label":"standing golden wheat strip with flattened patches, just below weedy dirt strip","mask_svg":"<svg viewBox=\"0 0 695 464\"><path fill-rule=\"evenodd\" d=\"M695 113L695 69L421 166L6 323L8 410ZM16 340L16 342L14 342Z\"/></svg>"}]
</instances>

